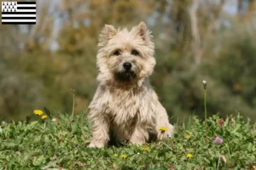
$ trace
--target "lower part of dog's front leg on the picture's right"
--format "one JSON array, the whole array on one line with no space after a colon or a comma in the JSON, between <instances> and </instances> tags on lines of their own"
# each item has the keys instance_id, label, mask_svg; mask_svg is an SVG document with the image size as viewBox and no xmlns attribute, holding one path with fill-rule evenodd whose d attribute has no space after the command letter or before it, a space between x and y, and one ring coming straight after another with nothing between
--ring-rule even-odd
<instances>
[{"instance_id":1,"label":"lower part of dog's front leg on the picture's right","mask_svg":"<svg viewBox=\"0 0 256 170\"><path fill-rule=\"evenodd\" d=\"M146 129L143 127L135 127L133 133L131 133L131 144L144 144L148 141L149 135Z\"/></svg>"}]
</instances>

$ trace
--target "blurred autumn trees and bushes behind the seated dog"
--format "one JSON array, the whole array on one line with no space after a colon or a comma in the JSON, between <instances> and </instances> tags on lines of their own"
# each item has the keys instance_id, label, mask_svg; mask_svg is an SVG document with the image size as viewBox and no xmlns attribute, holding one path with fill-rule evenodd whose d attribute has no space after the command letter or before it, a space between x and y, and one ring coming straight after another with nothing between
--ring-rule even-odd
<instances>
[{"instance_id":1,"label":"blurred autumn trees and bushes behind the seated dog","mask_svg":"<svg viewBox=\"0 0 256 170\"><path fill-rule=\"evenodd\" d=\"M37 0L37 25L0 26L0 120L35 109L85 111L96 91L102 26L153 32L152 85L171 122L204 115L256 120L256 0ZM72 89L72 90L71 90Z\"/></svg>"}]
</instances>

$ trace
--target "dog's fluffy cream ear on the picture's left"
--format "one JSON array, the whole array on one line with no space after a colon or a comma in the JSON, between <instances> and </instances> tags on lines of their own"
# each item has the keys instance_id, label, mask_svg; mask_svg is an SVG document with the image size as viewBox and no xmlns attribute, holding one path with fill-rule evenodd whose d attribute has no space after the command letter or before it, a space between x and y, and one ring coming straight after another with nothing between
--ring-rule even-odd
<instances>
[{"instance_id":1,"label":"dog's fluffy cream ear on the picture's left","mask_svg":"<svg viewBox=\"0 0 256 170\"><path fill-rule=\"evenodd\" d=\"M114 29L111 25L105 25L102 29L102 32L100 34L99 38L99 46L103 47L108 43L108 40L110 40L113 36L115 36L117 31Z\"/></svg>"}]
</instances>

